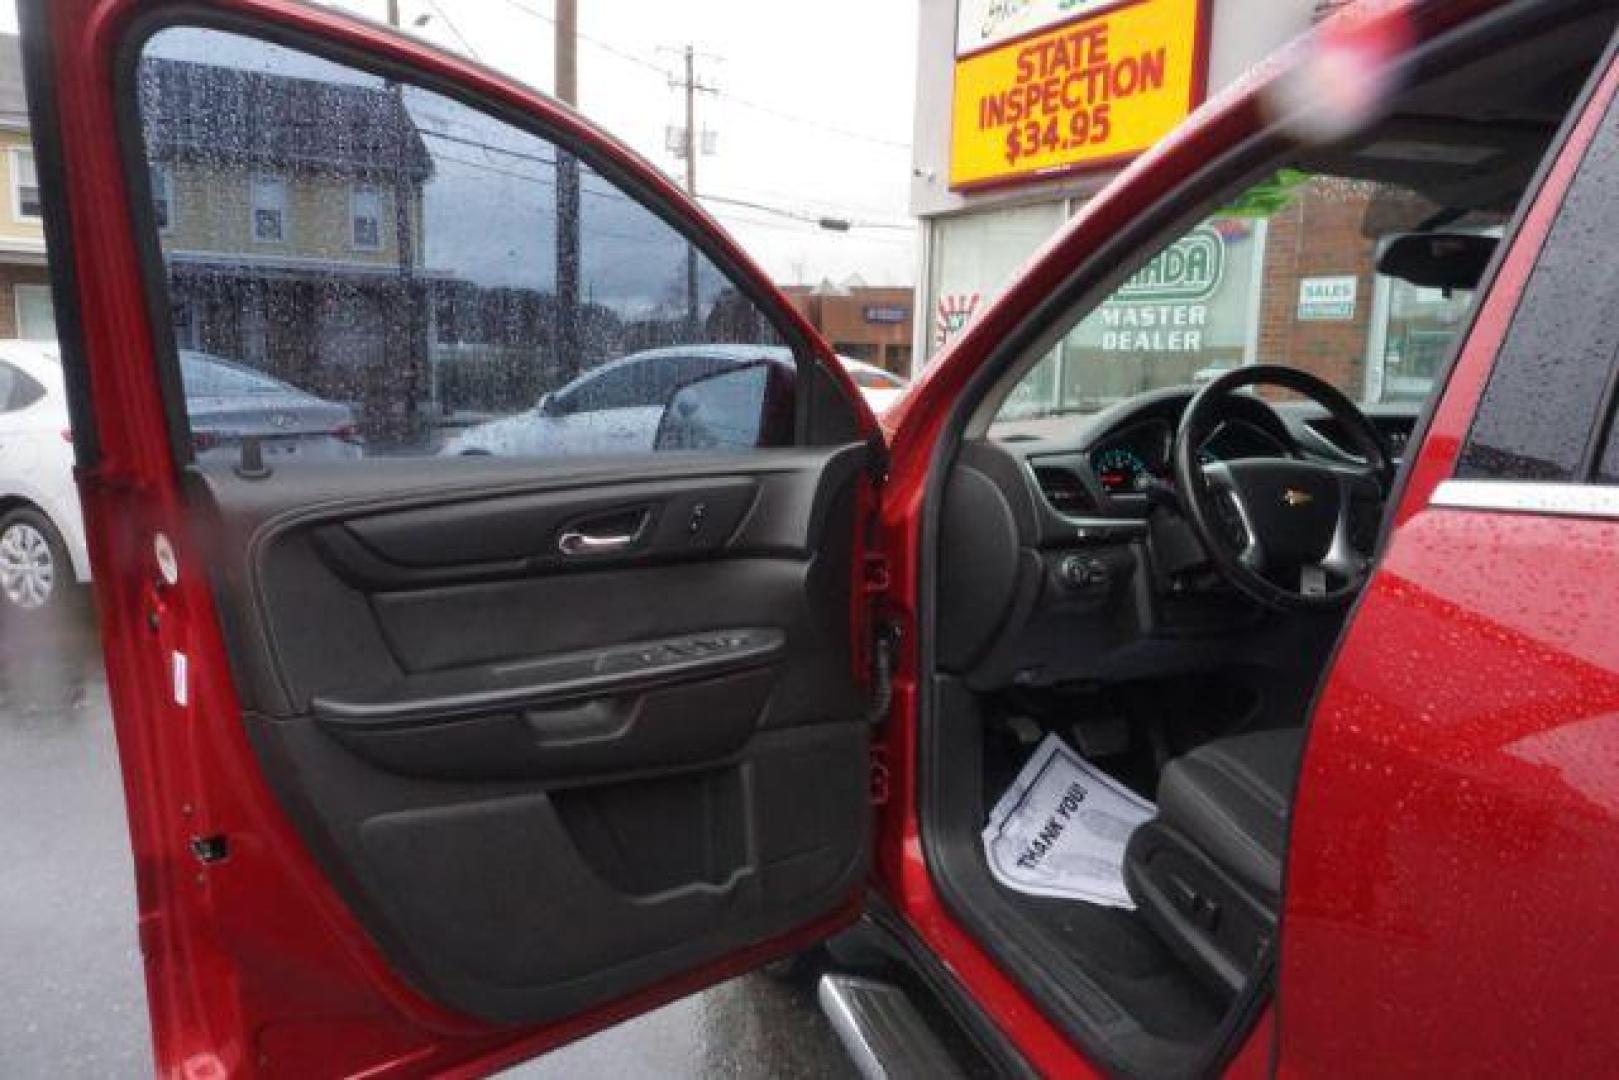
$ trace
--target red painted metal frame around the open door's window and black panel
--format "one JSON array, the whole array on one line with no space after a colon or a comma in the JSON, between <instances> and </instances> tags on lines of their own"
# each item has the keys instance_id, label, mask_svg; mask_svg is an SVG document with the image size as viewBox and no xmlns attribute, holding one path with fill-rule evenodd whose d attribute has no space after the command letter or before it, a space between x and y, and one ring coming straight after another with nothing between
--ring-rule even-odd
<instances>
[{"instance_id":1,"label":"red painted metal frame around the open door's window and black panel","mask_svg":"<svg viewBox=\"0 0 1619 1080\"><path fill-rule=\"evenodd\" d=\"M746 955L546 1028L502 1028L452 1014L389 967L259 774L236 721L241 709L214 601L186 534L108 78L130 19L155 6L53 0L26 11L45 19L26 29L47 29L53 53L52 107L60 117L62 186L79 283L76 327L100 403L94 415L100 457L81 473L79 491L125 774L157 1070L188 1077L455 1075L465 1065L468 1075L482 1074L801 949L853 921L858 897L834 916ZM831 347L735 241L661 172L563 105L340 13L285 0L230 0L214 10L408 65L589 142L680 207L695 230L745 267L782 317L816 343L822 366L856 403L865 429L876 432ZM170 538L178 552L175 585L159 578L152 554L157 534ZM856 625L863 617L852 612ZM173 653L189 661L185 704L172 693ZM215 834L232 837L230 857L207 866L189 842Z\"/></svg>"}]
</instances>

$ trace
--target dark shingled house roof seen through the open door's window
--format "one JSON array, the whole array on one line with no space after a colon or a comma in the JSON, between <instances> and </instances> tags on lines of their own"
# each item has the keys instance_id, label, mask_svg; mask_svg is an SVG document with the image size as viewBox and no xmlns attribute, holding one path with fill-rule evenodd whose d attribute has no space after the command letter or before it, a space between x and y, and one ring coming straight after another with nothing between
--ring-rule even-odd
<instances>
[{"instance_id":1,"label":"dark shingled house roof seen through the open door's window","mask_svg":"<svg viewBox=\"0 0 1619 1080\"><path fill-rule=\"evenodd\" d=\"M392 91L149 57L139 70L147 154L155 160L332 170L421 181L432 155Z\"/></svg>"}]
</instances>

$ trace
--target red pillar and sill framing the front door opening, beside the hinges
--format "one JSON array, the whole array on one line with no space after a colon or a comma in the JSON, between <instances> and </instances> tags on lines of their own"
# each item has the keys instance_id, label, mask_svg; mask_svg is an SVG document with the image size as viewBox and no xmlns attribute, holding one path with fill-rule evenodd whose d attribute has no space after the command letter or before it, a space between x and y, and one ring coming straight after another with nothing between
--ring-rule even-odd
<instances>
[{"instance_id":1,"label":"red pillar and sill framing the front door opening, beside the hinges","mask_svg":"<svg viewBox=\"0 0 1619 1080\"><path fill-rule=\"evenodd\" d=\"M1091 1064L1039 1010L1015 978L955 918L933 881L921 844L918 818L918 761L915 653L916 597L926 585L923 559L924 504L936 452L968 382L1002 340L1012 335L1091 253L1135 217L1164 199L1174 199L1185 178L1214 157L1268 128L1266 92L1276 76L1307 63L1313 49L1362 47L1383 63L1399 60L1402 49L1433 39L1493 3L1373 3L1344 16L1318 34L1284 50L1263 68L1213 99L1117 180L1088 201L1073 220L1013 277L1007 290L975 319L916 379L902 402L884 416L892 460L884 494L882 525L894 575L892 604L907 631L895 678L890 714L889 759L892 798L879 827L877 874L892 902L910 920L928 949L936 952L970 988L976 1004L1013 1041L1028 1062L1046 1075L1088 1075ZM1326 44L1323 44L1326 42ZM1329 970L1332 960L1319 963ZM1269 1014L1250 1035L1273 1028ZM1266 1054L1242 1052L1234 1074L1264 1070Z\"/></svg>"}]
</instances>

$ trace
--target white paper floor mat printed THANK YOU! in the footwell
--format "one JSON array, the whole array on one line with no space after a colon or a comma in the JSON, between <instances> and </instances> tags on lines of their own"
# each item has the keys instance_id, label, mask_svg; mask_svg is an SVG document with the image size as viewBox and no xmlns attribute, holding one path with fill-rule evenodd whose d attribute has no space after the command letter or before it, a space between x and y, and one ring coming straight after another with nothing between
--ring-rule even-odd
<instances>
[{"instance_id":1,"label":"white paper floor mat printed THANK YOU! in the footwell","mask_svg":"<svg viewBox=\"0 0 1619 1080\"><path fill-rule=\"evenodd\" d=\"M1135 908L1124 887L1124 845L1154 813L1153 803L1046 735L989 811L984 858L1009 889Z\"/></svg>"}]
</instances>

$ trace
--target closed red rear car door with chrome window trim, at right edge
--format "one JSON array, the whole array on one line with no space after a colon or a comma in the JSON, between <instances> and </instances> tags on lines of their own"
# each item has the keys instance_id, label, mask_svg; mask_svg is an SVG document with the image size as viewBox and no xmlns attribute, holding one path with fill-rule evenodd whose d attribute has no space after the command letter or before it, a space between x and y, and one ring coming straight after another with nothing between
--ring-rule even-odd
<instances>
[{"instance_id":1,"label":"closed red rear car door with chrome window trim, at right edge","mask_svg":"<svg viewBox=\"0 0 1619 1080\"><path fill-rule=\"evenodd\" d=\"M1284 1075L1613 1069L1619 68L1604 63L1478 309L1311 721Z\"/></svg>"}]
</instances>

